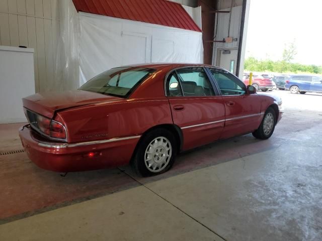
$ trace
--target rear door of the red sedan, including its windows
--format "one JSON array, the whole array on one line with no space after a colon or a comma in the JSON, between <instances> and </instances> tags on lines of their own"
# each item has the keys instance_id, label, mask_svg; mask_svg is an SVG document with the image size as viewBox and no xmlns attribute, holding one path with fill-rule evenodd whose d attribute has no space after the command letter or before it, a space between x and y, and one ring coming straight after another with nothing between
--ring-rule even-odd
<instances>
[{"instance_id":1,"label":"rear door of the red sedan, including its windows","mask_svg":"<svg viewBox=\"0 0 322 241\"><path fill-rule=\"evenodd\" d=\"M225 118L222 97L203 67L184 67L168 74L166 94L173 122L183 133L183 150L219 139Z\"/></svg>"}]
</instances>

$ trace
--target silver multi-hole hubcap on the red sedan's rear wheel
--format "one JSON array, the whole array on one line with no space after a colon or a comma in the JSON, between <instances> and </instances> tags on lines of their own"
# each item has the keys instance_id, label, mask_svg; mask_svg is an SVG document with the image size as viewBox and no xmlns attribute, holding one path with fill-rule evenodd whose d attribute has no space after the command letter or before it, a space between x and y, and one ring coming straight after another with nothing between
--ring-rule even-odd
<instances>
[{"instance_id":1,"label":"silver multi-hole hubcap on the red sedan's rear wheel","mask_svg":"<svg viewBox=\"0 0 322 241\"><path fill-rule=\"evenodd\" d=\"M145 166L150 172L160 172L168 166L171 155L170 141L165 137L154 138L145 150Z\"/></svg>"}]
</instances>

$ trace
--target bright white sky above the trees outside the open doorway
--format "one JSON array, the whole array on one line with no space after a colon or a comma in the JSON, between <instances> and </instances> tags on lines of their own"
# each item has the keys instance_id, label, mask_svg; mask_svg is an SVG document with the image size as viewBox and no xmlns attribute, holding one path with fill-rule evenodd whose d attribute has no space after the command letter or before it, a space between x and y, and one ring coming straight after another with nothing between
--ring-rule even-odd
<instances>
[{"instance_id":1,"label":"bright white sky above the trees outside the open doorway","mask_svg":"<svg viewBox=\"0 0 322 241\"><path fill-rule=\"evenodd\" d=\"M322 65L321 0L251 0L246 58L281 60L293 41L292 62Z\"/></svg>"}]
</instances>

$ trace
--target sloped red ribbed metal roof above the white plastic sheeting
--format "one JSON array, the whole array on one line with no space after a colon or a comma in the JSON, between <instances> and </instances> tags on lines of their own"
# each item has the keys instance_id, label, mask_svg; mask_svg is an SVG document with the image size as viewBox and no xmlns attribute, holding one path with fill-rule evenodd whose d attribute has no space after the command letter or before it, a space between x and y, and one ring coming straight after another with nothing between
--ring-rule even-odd
<instances>
[{"instance_id":1,"label":"sloped red ribbed metal roof above the white plastic sheeting","mask_svg":"<svg viewBox=\"0 0 322 241\"><path fill-rule=\"evenodd\" d=\"M186 10L167 0L73 0L79 12L202 32Z\"/></svg>"}]
</instances>

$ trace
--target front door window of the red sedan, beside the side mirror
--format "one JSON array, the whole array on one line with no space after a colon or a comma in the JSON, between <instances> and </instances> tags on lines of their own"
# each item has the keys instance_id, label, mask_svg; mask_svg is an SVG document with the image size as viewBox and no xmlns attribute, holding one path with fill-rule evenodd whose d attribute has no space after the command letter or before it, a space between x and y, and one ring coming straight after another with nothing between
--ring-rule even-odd
<instances>
[{"instance_id":1,"label":"front door window of the red sedan, beside the side mirror","mask_svg":"<svg viewBox=\"0 0 322 241\"><path fill-rule=\"evenodd\" d=\"M246 93L246 86L237 77L223 69L209 68L222 95L241 95Z\"/></svg>"}]
</instances>

